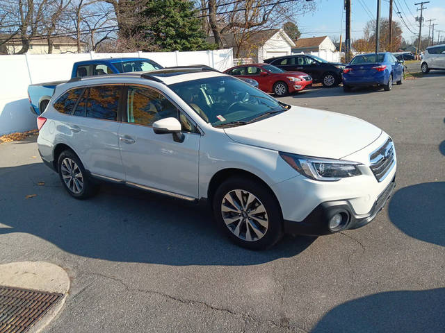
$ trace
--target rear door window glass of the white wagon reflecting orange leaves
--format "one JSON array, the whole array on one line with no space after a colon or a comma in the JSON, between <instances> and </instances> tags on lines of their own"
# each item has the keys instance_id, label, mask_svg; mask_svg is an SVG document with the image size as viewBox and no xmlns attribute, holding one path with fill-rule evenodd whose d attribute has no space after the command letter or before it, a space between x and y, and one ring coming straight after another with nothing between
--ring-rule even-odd
<instances>
[{"instance_id":1,"label":"rear door window glass of the white wagon reflecting orange leaves","mask_svg":"<svg viewBox=\"0 0 445 333\"><path fill-rule=\"evenodd\" d=\"M86 117L118 120L120 90L118 85L90 87Z\"/></svg>"}]
</instances>

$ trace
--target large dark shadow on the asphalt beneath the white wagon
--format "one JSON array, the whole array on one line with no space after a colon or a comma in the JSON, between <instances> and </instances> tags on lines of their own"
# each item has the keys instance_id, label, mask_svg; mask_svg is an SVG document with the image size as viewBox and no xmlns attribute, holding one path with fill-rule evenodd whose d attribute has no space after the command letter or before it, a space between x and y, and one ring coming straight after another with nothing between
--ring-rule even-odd
<instances>
[{"instance_id":1,"label":"large dark shadow on the asphalt beneath the white wagon","mask_svg":"<svg viewBox=\"0 0 445 333\"><path fill-rule=\"evenodd\" d=\"M245 250L218 232L206 206L109 184L93 198L76 200L42 163L0 168L0 180L1 223L7 225L0 225L0 235L33 234L83 257L165 265L253 265L298 255L316 239L286 236L270 250Z\"/></svg>"}]
</instances>

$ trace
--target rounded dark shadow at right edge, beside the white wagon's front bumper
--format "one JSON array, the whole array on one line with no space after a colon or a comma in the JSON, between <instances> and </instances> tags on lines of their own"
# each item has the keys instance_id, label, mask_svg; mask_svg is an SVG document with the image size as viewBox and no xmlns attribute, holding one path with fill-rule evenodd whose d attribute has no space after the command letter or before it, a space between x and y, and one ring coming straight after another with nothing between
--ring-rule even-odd
<instances>
[{"instance_id":1,"label":"rounded dark shadow at right edge, beside the white wagon's front bumper","mask_svg":"<svg viewBox=\"0 0 445 333\"><path fill-rule=\"evenodd\" d=\"M389 202L389 219L410 237L445 246L445 182L398 189Z\"/></svg>"}]
</instances>

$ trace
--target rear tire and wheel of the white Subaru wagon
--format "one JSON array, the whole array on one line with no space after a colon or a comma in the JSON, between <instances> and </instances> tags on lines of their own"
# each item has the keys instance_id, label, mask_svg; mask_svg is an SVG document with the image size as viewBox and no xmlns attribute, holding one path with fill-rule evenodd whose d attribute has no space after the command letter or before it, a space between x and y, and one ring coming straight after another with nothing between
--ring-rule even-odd
<instances>
[{"instance_id":1,"label":"rear tire and wheel of the white Subaru wagon","mask_svg":"<svg viewBox=\"0 0 445 333\"><path fill-rule=\"evenodd\" d=\"M65 190L76 199L90 198L97 192L97 184L86 175L79 157L70 150L60 153L57 170Z\"/></svg>"}]
</instances>

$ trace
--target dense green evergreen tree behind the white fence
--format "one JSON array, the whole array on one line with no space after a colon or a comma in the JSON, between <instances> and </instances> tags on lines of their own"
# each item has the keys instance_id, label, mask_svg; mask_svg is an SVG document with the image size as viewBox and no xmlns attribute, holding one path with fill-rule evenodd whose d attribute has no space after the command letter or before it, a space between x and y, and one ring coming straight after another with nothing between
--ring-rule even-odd
<instances>
[{"instance_id":1,"label":"dense green evergreen tree behind the white fence","mask_svg":"<svg viewBox=\"0 0 445 333\"><path fill-rule=\"evenodd\" d=\"M214 49L205 41L202 22L196 17L193 1L149 0L143 15L147 23L139 31L153 42L151 50L199 51Z\"/></svg>"}]
</instances>

